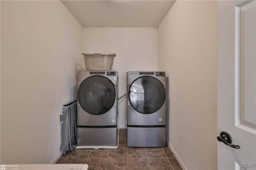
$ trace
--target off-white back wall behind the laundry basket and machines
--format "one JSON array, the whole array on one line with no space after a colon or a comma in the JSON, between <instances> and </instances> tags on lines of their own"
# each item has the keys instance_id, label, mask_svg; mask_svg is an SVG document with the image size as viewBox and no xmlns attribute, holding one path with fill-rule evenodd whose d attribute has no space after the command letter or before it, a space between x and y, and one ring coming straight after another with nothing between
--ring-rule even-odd
<instances>
[{"instance_id":1,"label":"off-white back wall behind the laundry basket and machines","mask_svg":"<svg viewBox=\"0 0 256 170\"><path fill-rule=\"evenodd\" d=\"M119 97L126 93L127 71L158 70L158 28L83 29L84 53L116 53L112 70L118 71ZM126 128L126 98L118 107L118 127Z\"/></svg>"}]
</instances>

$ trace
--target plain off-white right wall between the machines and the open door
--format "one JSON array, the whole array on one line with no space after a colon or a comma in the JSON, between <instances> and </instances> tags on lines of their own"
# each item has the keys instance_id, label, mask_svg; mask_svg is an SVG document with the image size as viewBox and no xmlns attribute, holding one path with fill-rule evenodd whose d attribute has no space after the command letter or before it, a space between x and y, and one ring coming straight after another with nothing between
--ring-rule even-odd
<instances>
[{"instance_id":1,"label":"plain off-white right wall between the machines and the open door","mask_svg":"<svg viewBox=\"0 0 256 170\"><path fill-rule=\"evenodd\" d=\"M217 169L217 1L176 1L158 27L168 142L184 168Z\"/></svg>"}]
</instances>

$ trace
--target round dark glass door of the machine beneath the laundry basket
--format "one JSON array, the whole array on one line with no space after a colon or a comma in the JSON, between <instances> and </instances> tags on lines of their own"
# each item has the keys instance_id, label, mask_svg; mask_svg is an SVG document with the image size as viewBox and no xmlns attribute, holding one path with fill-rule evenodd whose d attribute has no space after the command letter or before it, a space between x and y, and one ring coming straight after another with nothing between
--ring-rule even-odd
<instances>
[{"instance_id":1,"label":"round dark glass door of the machine beneath the laundry basket","mask_svg":"<svg viewBox=\"0 0 256 170\"><path fill-rule=\"evenodd\" d=\"M80 106L92 115L109 111L115 102L115 86L107 77L94 75L85 79L78 89Z\"/></svg>"}]
</instances>

